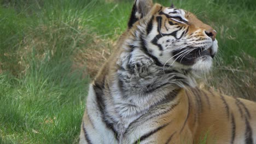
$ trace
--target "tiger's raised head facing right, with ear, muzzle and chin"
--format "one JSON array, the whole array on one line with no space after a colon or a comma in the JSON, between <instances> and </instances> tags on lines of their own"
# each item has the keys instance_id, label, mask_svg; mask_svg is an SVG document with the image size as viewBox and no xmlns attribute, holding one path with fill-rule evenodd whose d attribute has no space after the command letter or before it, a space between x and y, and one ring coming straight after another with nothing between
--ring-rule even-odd
<instances>
[{"instance_id":1,"label":"tiger's raised head facing right, with ear, muzzle and chin","mask_svg":"<svg viewBox=\"0 0 256 144\"><path fill-rule=\"evenodd\" d=\"M128 29L160 67L203 73L211 69L218 50L211 26L189 11L153 5L152 0L135 1Z\"/></svg>"}]
</instances>

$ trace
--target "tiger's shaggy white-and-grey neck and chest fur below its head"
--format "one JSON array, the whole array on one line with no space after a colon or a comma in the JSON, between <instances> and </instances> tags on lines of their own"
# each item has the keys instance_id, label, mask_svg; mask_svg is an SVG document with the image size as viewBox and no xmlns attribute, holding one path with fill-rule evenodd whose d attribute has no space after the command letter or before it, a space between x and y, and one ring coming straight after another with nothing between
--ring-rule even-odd
<instances>
[{"instance_id":1,"label":"tiger's shaggy white-and-grey neck and chest fur below its head","mask_svg":"<svg viewBox=\"0 0 256 144\"><path fill-rule=\"evenodd\" d=\"M137 31L143 33L141 29ZM148 55L142 37L138 35L120 43L119 52L114 53L118 56L110 58L94 81L100 86L96 88L101 93L96 96L106 110L103 115L120 138L132 122L169 103L179 89L190 85L183 70L164 70Z\"/></svg>"}]
</instances>

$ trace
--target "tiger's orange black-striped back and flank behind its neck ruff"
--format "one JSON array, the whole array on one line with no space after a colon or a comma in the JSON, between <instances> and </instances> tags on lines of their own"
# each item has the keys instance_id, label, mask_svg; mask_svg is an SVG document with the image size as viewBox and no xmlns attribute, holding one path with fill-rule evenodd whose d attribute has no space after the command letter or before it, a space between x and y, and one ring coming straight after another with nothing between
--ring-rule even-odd
<instances>
[{"instance_id":1,"label":"tiger's orange black-striped back and flank behind its neck ruff","mask_svg":"<svg viewBox=\"0 0 256 144\"><path fill-rule=\"evenodd\" d=\"M159 112L162 107L167 110ZM136 124L133 130L140 134L152 129L133 143L255 143L255 107L252 101L217 92L181 89L171 103L153 109L160 116Z\"/></svg>"}]
</instances>

